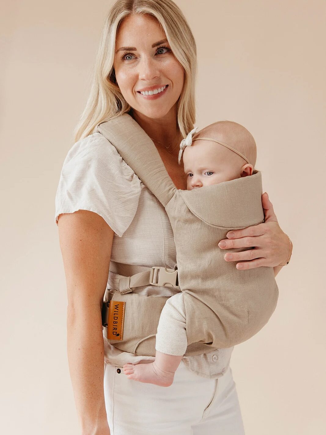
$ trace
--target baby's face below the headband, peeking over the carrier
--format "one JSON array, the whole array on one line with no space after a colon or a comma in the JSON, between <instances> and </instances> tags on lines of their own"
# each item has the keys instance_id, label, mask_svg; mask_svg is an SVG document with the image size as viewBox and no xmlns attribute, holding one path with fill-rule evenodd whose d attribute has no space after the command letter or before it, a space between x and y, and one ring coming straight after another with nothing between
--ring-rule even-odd
<instances>
[{"instance_id":1,"label":"baby's face below the headband, peeking over the carrier","mask_svg":"<svg viewBox=\"0 0 326 435\"><path fill-rule=\"evenodd\" d=\"M187 189L210 186L240 178L242 157L211 141L194 141L183 151Z\"/></svg>"}]
</instances>

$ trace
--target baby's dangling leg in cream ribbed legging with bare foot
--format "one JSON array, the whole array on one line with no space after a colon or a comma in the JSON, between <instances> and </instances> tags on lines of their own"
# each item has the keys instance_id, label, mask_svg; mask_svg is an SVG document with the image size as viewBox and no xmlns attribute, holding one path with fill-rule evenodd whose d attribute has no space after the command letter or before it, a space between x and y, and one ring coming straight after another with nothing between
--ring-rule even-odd
<instances>
[{"instance_id":1,"label":"baby's dangling leg in cream ribbed legging with bare foot","mask_svg":"<svg viewBox=\"0 0 326 435\"><path fill-rule=\"evenodd\" d=\"M155 361L150 364L125 364L129 379L168 387L187 348L186 310L183 294L169 298L160 315L156 334Z\"/></svg>"}]
</instances>

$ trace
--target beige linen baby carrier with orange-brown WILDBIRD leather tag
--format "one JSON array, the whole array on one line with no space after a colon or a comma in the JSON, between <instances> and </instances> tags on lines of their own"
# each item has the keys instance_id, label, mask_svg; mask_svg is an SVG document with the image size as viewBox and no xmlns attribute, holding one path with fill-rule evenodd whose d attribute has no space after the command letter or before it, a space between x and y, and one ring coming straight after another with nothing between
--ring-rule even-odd
<instances>
[{"instance_id":1,"label":"beige linen baby carrier with orange-brown WILDBIRD leather tag","mask_svg":"<svg viewBox=\"0 0 326 435\"><path fill-rule=\"evenodd\" d=\"M97 131L163 204L176 245L175 270L111 261L115 292L103 303L102 311L110 343L136 355L155 355L156 329L167 298L133 292L150 284L179 287L183 292L186 355L230 348L255 335L276 307L278 288L273 268L239 271L235 262L224 260L224 254L246 248L221 250L218 242L232 229L263 222L261 173L254 171L251 176L191 191L177 189L153 141L130 115L100 123ZM123 325L115 328L119 332L114 336L113 321L119 309L123 310Z\"/></svg>"}]
</instances>

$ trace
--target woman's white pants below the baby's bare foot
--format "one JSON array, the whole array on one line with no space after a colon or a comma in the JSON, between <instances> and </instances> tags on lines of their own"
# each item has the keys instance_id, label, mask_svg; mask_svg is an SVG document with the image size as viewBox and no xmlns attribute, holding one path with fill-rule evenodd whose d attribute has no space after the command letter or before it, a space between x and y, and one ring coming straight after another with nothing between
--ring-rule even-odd
<instances>
[{"instance_id":1,"label":"woman's white pants below the baby's bare foot","mask_svg":"<svg viewBox=\"0 0 326 435\"><path fill-rule=\"evenodd\" d=\"M243 435L231 368L218 379L189 371L181 361L170 387L128 379L121 367L104 367L111 435Z\"/></svg>"}]
</instances>

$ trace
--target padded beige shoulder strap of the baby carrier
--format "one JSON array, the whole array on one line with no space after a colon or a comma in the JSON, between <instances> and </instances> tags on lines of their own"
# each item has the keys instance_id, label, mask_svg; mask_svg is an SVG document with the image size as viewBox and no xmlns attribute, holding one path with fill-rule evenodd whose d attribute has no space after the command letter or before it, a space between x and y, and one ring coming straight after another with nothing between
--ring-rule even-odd
<instances>
[{"instance_id":1,"label":"padded beige shoulder strap of the baby carrier","mask_svg":"<svg viewBox=\"0 0 326 435\"><path fill-rule=\"evenodd\" d=\"M153 141L128 114L97 125L97 131L116 148L123 160L165 207L176 186Z\"/></svg>"}]
</instances>

